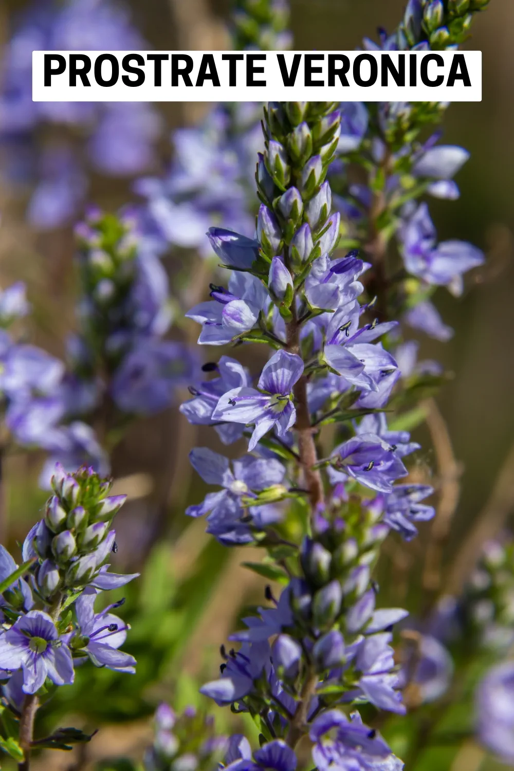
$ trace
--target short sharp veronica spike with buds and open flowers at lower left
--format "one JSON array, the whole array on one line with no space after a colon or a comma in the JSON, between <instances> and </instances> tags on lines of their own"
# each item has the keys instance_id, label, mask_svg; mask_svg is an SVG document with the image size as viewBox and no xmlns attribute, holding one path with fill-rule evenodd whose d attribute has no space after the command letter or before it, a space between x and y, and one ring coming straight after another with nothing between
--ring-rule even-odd
<instances>
[{"instance_id":1,"label":"short sharp veronica spike with buds and open flowers at lower left","mask_svg":"<svg viewBox=\"0 0 514 771\"><path fill-rule=\"evenodd\" d=\"M54 686L70 685L74 668L87 658L116 672L134 672L134 658L119 648L127 627L113 610L97 602L102 591L136 577L109 572L116 552L113 518L125 496L109 496L111 482L85 466L52 476L45 517L25 538L17 567L0 549L2 631L0 677L5 695L0 746L29 769L32 748L71 749L88 741L77 729L35 739L35 715L51 699Z\"/></svg>"}]
</instances>

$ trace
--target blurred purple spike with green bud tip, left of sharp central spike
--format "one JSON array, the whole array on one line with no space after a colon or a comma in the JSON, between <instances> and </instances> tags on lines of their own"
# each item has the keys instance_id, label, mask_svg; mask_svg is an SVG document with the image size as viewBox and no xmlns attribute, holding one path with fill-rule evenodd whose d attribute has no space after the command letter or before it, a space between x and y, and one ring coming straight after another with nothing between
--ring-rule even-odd
<instances>
[{"instance_id":1,"label":"blurred purple spike with green bud tip, left of sharp central spike","mask_svg":"<svg viewBox=\"0 0 514 771\"><path fill-rule=\"evenodd\" d=\"M165 409L195 376L196 359L163 338L172 308L162 264L128 216L95 210L76 232L82 297L63 383L69 416L91 414L105 399L129 414Z\"/></svg>"}]
</instances>

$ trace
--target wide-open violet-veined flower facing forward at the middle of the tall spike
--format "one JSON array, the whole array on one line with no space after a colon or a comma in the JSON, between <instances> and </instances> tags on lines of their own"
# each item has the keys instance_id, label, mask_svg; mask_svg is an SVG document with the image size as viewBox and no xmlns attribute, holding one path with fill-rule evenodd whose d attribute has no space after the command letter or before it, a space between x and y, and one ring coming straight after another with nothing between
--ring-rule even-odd
<instances>
[{"instance_id":1,"label":"wide-open violet-veined flower facing forward at the middle of the tall spike","mask_svg":"<svg viewBox=\"0 0 514 771\"><path fill-rule=\"evenodd\" d=\"M277 351L264 366L257 385L259 390L230 390L218 402L213 419L254 423L254 433L248 445L250 451L274 426L277 426L278 435L284 436L296 420L291 391L303 371L304 362L300 356Z\"/></svg>"}]
</instances>

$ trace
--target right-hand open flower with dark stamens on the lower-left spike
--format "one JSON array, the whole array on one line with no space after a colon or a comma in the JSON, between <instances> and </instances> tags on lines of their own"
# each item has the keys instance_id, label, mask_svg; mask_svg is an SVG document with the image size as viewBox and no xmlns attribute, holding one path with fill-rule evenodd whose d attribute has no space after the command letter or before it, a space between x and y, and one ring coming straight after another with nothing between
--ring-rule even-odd
<instances>
[{"instance_id":1,"label":"right-hand open flower with dark stamens on the lower-left spike","mask_svg":"<svg viewBox=\"0 0 514 771\"><path fill-rule=\"evenodd\" d=\"M109 611L117 607L117 603L107 606L100 613L95 613L94 604L97 592L94 589L83 591L75 603L80 636L79 642L84 642L76 648L84 651L97 667L107 667L115 672L136 672L136 659L118 648L126 640L127 626L121 618Z\"/></svg>"}]
</instances>

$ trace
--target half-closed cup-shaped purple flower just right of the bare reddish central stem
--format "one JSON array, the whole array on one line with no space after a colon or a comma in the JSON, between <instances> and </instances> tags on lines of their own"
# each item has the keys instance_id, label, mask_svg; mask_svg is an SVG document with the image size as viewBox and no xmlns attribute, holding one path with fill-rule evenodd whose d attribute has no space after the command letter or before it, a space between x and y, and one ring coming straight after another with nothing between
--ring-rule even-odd
<instances>
[{"instance_id":1,"label":"half-closed cup-shaped purple flower just right of the bare reddish central stem","mask_svg":"<svg viewBox=\"0 0 514 771\"><path fill-rule=\"evenodd\" d=\"M339 445L331 454L331 481L344 481L352 476L365 487L379 493L391 493L392 483L407 470L395 448L375 434L360 434ZM341 476L341 472L343 472Z\"/></svg>"}]
</instances>

